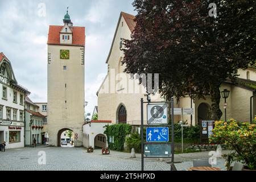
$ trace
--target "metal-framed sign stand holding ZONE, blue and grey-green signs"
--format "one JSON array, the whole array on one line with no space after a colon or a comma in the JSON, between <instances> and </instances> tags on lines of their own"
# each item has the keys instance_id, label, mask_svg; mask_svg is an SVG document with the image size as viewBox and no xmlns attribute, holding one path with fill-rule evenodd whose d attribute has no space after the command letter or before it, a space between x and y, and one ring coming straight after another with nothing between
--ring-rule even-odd
<instances>
[{"instance_id":1,"label":"metal-framed sign stand holding ZONE, blue and grey-green signs","mask_svg":"<svg viewBox=\"0 0 256 182\"><path fill-rule=\"evenodd\" d=\"M146 143L144 142L144 120L143 120L143 105L147 104L147 124L150 125L165 125L164 127L147 127ZM167 113L167 104L168 112ZM176 112L182 114L182 109ZM167 115L168 114L168 115ZM168 117L169 116L169 117ZM169 125L168 119L171 122L171 138L169 142ZM144 171L144 158L171 158L174 163L174 98L166 102L147 102L141 99L141 169ZM172 168L171 168L172 171Z\"/></svg>"}]
</instances>

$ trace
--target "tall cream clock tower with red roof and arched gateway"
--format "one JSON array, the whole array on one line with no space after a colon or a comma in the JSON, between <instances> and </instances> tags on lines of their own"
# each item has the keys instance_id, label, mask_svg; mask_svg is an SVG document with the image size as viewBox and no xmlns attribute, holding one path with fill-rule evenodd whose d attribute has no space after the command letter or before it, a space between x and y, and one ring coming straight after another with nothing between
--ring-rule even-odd
<instances>
[{"instance_id":1,"label":"tall cream clock tower with red roof and arched gateway","mask_svg":"<svg viewBox=\"0 0 256 182\"><path fill-rule=\"evenodd\" d=\"M46 133L49 144L60 146L60 135L72 130L75 146L82 146L84 124L85 27L73 27L65 14L63 26L49 26Z\"/></svg>"}]
</instances>

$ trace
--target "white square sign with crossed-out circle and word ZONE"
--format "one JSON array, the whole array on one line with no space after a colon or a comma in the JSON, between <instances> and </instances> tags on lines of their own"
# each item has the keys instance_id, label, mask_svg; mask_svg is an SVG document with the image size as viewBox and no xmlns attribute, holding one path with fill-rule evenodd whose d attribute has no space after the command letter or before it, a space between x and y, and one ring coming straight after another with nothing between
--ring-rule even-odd
<instances>
[{"instance_id":1,"label":"white square sign with crossed-out circle and word ZONE","mask_svg":"<svg viewBox=\"0 0 256 182\"><path fill-rule=\"evenodd\" d=\"M148 125L167 124L167 104L148 104L147 105Z\"/></svg>"}]
</instances>

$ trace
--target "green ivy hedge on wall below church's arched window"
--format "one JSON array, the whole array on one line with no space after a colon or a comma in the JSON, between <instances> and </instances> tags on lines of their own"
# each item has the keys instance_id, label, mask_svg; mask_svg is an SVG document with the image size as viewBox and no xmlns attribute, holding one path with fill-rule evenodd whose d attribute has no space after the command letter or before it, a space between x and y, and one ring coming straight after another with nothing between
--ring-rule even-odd
<instances>
[{"instance_id":1,"label":"green ivy hedge on wall below church's arched window","mask_svg":"<svg viewBox=\"0 0 256 182\"><path fill-rule=\"evenodd\" d=\"M108 144L110 150L123 151L126 136L131 134L131 125L119 123L115 125L106 126L104 134L108 137ZM110 143L110 137L114 138L114 143Z\"/></svg>"}]
</instances>

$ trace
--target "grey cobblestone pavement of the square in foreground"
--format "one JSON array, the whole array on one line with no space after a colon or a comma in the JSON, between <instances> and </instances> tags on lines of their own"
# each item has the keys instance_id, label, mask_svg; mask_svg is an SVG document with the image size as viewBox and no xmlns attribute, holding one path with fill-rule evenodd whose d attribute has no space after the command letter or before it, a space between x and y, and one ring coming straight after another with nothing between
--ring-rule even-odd
<instances>
[{"instance_id":1,"label":"grey cobblestone pavement of the square in foreground","mask_svg":"<svg viewBox=\"0 0 256 182\"><path fill-rule=\"evenodd\" d=\"M46 152L46 165L39 165L39 151ZM0 171L24 170L24 171L139 171L141 170L141 158L130 159L130 154L111 151L110 155L101 155L101 150L87 153L85 148L61 148L61 147L36 147L16 148L0 152ZM175 164L179 171L185 171L192 167L192 161ZM224 160L218 159L217 165L224 170ZM168 171L170 164L156 159L145 159L146 171Z\"/></svg>"}]
</instances>

